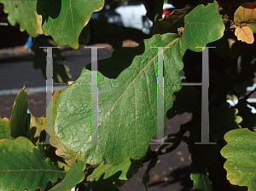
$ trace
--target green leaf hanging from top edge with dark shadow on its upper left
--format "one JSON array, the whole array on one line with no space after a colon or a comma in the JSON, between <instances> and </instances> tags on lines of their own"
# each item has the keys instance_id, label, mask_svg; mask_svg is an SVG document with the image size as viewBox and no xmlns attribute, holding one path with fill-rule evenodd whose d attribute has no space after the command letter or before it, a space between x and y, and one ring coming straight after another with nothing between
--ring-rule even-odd
<instances>
[{"instance_id":1,"label":"green leaf hanging from top edge with dark shadow on its upper left","mask_svg":"<svg viewBox=\"0 0 256 191\"><path fill-rule=\"evenodd\" d=\"M79 48L79 35L90 15L103 8L104 0L38 1L38 14L43 16L42 29L59 45Z\"/></svg>"}]
</instances>

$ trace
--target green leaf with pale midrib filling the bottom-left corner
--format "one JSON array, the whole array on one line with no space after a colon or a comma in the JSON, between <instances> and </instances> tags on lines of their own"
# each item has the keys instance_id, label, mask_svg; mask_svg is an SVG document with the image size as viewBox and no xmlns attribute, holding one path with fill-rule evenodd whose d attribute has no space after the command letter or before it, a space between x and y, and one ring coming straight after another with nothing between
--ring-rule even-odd
<instances>
[{"instance_id":1,"label":"green leaf with pale midrib filling the bottom-left corner","mask_svg":"<svg viewBox=\"0 0 256 191\"><path fill-rule=\"evenodd\" d=\"M47 183L65 177L51 159L43 159L40 151L26 137L0 141L0 190L44 190Z\"/></svg>"}]
</instances>

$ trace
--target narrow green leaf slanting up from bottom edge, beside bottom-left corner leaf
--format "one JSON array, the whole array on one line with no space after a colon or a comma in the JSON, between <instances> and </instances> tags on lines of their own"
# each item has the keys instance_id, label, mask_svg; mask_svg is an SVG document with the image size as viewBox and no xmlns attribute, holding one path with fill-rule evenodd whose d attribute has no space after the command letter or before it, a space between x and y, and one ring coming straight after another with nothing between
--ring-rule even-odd
<instances>
[{"instance_id":1,"label":"narrow green leaf slanting up from bottom edge, beside bottom-left corner leaf","mask_svg":"<svg viewBox=\"0 0 256 191\"><path fill-rule=\"evenodd\" d=\"M70 191L76 184L84 180L84 169L85 164L82 161L73 163L69 171L67 171L66 177L57 184L54 188L51 188L49 191Z\"/></svg>"}]
</instances>

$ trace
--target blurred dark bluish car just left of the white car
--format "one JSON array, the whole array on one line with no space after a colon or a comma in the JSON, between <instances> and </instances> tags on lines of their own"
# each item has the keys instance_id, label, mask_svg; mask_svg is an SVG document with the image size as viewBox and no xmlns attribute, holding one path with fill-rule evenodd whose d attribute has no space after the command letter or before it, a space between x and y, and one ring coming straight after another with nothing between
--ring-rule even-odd
<instances>
[{"instance_id":1,"label":"blurred dark bluish car just left of the white car","mask_svg":"<svg viewBox=\"0 0 256 191\"><path fill-rule=\"evenodd\" d=\"M98 15L101 13L104 13L106 15L106 17L108 18L108 23L115 24L117 26L123 26L120 14L117 14L113 10L111 10L108 4L105 4L101 11L91 14L90 19L98 19Z\"/></svg>"}]
</instances>

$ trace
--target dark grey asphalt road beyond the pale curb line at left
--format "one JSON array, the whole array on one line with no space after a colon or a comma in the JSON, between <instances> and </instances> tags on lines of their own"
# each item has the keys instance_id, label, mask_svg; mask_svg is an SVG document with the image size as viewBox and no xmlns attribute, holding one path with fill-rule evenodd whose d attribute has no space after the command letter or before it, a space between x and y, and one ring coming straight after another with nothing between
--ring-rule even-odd
<instances>
[{"instance_id":1,"label":"dark grey asphalt road beyond the pale curb line at left","mask_svg":"<svg viewBox=\"0 0 256 191\"><path fill-rule=\"evenodd\" d=\"M46 85L41 70L35 70L33 66L32 53L18 52L11 54L9 51L2 53L0 51L0 90L10 90L22 88L26 84L27 88L42 87ZM21 51L20 51L21 52ZM98 49L98 59L104 59L111 56L113 49ZM63 49L62 55L67 59L65 64L70 68L72 81L79 78L80 72L85 65L90 63L90 49ZM61 63L54 55L54 61Z\"/></svg>"}]
</instances>

